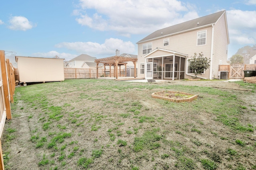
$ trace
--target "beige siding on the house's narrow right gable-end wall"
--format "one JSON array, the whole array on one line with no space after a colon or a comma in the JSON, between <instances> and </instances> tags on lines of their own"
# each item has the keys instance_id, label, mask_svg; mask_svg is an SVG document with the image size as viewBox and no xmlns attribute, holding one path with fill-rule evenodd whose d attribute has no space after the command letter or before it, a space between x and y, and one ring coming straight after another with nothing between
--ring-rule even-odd
<instances>
[{"instance_id":1,"label":"beige siding on the house's narrow right gable-end wall","mask_svg":"<svg viewBox=\"0 0 256 170\"><path fill-rule=\"evenodd\" d=\"M226 48L228 45L228 37L226 31L225 16L223 15L214 25L214 46L212 55L212 77L218 78L218 70L220 60L222 64L228 64L228 55Z\"/></svg>"}]
</instances>

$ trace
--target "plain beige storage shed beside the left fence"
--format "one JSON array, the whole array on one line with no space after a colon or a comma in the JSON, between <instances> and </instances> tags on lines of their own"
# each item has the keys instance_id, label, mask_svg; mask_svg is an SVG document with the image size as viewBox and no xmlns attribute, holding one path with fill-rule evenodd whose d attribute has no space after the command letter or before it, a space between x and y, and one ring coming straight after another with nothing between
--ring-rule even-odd
<instances>
[{"instance_id":1,"label":"plain beige storage shed beside the left fence","mask_svg":"<svg viewBox=\"0 0 256 170\"><path fill-rule=\"evenodd\" d=\"M15 56L15 61L21 83L64 80L64 59Z\"/></svg>"}]
</instances>

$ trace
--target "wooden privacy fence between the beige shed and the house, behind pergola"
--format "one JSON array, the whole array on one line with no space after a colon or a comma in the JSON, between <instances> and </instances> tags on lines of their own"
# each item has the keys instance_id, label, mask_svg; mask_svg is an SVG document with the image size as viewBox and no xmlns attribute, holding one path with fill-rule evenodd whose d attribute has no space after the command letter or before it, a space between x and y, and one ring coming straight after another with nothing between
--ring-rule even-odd
<instances>
[{"instance_id":1,"label":"wooden privacy fence between the beige shed and the house, behind pergola","mask_svg":"<svg viewBox=\"0 0 256 170\"><path fill-rule=\"evenodd\" d=\"M114 77L114 69L111 69L111 76L110 70L106 69L104 71L103 68L98 69L98 76L108 76ZM124 76L125 72L118 70L118 76ZM64 78L96 78L97 77L97 69L96 68L64 68Z\"/></svg>"}]
</instances>

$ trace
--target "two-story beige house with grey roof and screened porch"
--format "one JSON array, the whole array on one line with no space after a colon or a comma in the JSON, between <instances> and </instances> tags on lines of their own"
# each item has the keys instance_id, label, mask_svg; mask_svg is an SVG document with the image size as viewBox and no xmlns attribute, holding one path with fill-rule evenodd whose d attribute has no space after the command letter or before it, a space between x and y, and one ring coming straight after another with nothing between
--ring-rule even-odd
<instances>
[{"instance_id":1,"label":"two-story beige house with grey roof and screened porch","mask_svg":"<svg viewBox=\"0 0 256 170\"><path fill-rule=\"evenodd\" d=\"M194 53L210 59L199 78L218 78L220 64L228 64L226 11L159 29L138 41L138 77L183 79L194 76L188 68Z\"/></svg>"}]
</instances>

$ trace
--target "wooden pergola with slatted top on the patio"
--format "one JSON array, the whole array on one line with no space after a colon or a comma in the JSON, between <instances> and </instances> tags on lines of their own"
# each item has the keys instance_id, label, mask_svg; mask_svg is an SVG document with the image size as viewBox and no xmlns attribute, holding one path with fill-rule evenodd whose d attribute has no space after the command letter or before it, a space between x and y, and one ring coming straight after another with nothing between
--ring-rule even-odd
<instances>
[{"instance_id":1,"label":"wooden pergola with slatted top on the patio","mask_svg":"<svg viewBox=\"0 0 256 170\"><path fill-rule=\"evenodd\" d=\"M138 61L138 59L136 58L132 58L132 57L121 57L121 56L113 56L113 57L106 57L103 59L96 59L94 62L97 64L97 78L98 78L98 65L99 63L103 63L104 64L104 71L106 70L106 65L109 66L109 70L110 70L110 77L111 77L111 66L114 66L114 77L116 77L116 80L118 80L118 66L119 66L119 70L120 70L120 74L121 74L121 66L124 65L125 66L125 70L126 70L126 64L124 62L128 62L128 61L132 61L132 63L134 64L134 78L136 78L136 62ZM125 71L125 76L126 76L126 71Z\"/></svg>"}]
</instances>

